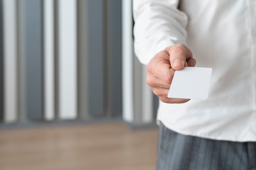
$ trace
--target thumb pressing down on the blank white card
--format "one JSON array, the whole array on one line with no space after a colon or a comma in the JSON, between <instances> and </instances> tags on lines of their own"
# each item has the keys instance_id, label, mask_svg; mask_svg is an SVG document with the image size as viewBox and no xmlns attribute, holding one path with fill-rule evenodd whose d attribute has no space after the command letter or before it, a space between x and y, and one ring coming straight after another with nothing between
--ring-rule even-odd
<instances>
[{"instance_id":1,"label":"thumb pressing down on the blank white card","mask_svg":"<svg viewBox=\"0 0 256 170\"><path fill-rule=\"evenodd\" d=\"M193 58L191 51L184 44L175 44L167 50L170 55L171 68L174 70L183 69L186 60Z\"/></svg>"}]
</instances>

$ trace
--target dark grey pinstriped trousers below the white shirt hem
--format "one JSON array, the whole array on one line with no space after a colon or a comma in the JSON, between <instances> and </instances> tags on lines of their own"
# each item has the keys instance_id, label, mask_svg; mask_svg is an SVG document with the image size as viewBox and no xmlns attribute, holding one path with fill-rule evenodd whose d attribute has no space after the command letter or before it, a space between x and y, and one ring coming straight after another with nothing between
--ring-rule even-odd
<instances>
[{"instance_id":1,"label":"dark grey pinstriped trousers below the white shirt hem","mask_svg":"<svg viewBox=\"0 0 256 170\"><path fill-rule=\"evenodd\" d=\"M256 170L256 142L216 141L159 127L157 170Z\"/></svg>"}]
</instances>

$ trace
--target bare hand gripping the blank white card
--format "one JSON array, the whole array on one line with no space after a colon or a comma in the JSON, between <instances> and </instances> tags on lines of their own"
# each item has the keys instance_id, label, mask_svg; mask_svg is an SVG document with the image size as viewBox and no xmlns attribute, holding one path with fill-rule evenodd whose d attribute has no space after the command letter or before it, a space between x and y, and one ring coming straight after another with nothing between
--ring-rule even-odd
<instances>
[{"instance_id":1,"label":"bare hand gripping the blank white card","mask_svg":"<svg viewBox=\"0 0 256 170\"><path fill-rule=\"evenodd\" d=\"M157 53L148 63L146 82L162 102L188 102L190 99L168 98L167 94L175 70L182 70L184 66L193 67L195 64L191 51L184 44L169 46Z\"/></svg>"}]
</instances>

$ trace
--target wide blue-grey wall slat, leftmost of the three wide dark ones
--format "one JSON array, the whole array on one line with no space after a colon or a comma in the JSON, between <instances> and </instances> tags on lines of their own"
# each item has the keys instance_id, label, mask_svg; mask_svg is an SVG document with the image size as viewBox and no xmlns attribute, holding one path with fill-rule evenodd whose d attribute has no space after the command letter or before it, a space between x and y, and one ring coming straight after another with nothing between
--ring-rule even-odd
<instances>
[{"instance_id":1,"label":"wide blue-grey wall slat, leftmost of the three wide dark ones","mask_svg":"<svg viewBox=\"0 0 256 170\"><path fill-rule=\"evenodd\" d=\"M42 1L25 0L26 108L29 119L43 118Z\"/></svg>"}]
</instances>

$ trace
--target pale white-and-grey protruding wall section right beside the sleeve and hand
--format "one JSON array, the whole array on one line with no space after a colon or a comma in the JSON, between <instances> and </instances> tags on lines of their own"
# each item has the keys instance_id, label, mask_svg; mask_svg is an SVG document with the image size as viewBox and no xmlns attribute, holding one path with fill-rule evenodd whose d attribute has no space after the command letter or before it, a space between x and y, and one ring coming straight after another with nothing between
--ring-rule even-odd
<instances>
[{"instance_id":1,"label":"pale white-and-grey protruding wall section right beside the sleeve and hand","mask_svg":"<svg viewBox=\"0 0 256 170\"><path fill-rule=\"evenodd\" d=\"M132 128L155 125L158 98L146 84L146 66L134 54L131 0L122 1L122 14L123 118Z\"/></svg>"}]
</instances>

